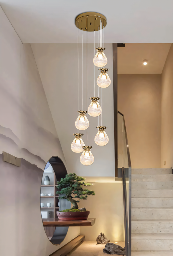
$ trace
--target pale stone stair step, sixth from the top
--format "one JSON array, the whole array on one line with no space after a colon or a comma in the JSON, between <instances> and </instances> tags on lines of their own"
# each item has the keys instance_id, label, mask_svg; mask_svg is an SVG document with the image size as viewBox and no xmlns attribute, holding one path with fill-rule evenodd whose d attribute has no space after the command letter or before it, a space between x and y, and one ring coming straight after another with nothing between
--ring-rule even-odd
<instances>
[{"instance_id":1,"label":"pale stone stair step, sixth from the top","mask_svg":"<svg viewBox=\"0 0 173 256\"><path fill-rule=\"evenodd\" d=\"M132 208L132 220L171 220L173 208Z\"/></svg>"}]
</instances>

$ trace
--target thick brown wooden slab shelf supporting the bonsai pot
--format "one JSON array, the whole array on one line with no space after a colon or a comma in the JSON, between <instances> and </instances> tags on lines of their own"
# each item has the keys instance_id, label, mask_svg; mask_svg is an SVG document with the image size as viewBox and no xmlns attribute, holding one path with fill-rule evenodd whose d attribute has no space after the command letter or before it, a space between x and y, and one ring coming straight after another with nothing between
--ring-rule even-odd
<instances>
[{"instance_id":1,"label":"thick brown wooden slab shelf supporting the bonsai pot","mask_svg":"<svg viewBox=\"0 0 173 256\"><path fill-rule=\"evenodd\" d=\"M87 220L59 220L58 218L44 218L44 227L91 227L95 223L95 218Z\"/></svg>"}]
</instances>

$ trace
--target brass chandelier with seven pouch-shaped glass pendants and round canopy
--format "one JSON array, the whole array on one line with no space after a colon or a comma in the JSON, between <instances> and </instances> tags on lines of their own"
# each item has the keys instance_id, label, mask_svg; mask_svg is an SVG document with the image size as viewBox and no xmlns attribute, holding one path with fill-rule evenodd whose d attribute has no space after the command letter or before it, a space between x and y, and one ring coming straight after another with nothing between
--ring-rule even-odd
<instances>
[{"instance_id":1,"label":"brass chandelier with seven pouch-shaped glass pendants and round canopy","mask_svg":"<svg viewBox=\"0 0 173 256\"><path fill-rule=\"evenodd\" d=\"M78 15L75 20L75 24L78 28L78 117L75 121L75 126L78 129L77 133L74 133L75 136L73 142L71 143L71 150L75 153L81 153L80 156L80 163L83 165L91 165L94 162L94 156L91 152L92 146L88 146L88 127L89 127L89 120L88 114L91 117L98 117L98 132L95 136L95 143L98 146L105 146L109 138L105 132L106 126L102 126L102 112L103 112L103 99L102 99L102 88L106 88L110 85L111 80L107 74L108 68L105 68L107 64L107 57L105 55L105 34L104 28L107 24L106 18L104 15L96 12L86 12ZM82 52L81 52L81 80L79 81L79 31L81 30L81 41L82 41ZM83 31L86 32L86 98L87 98L87 106L83 109ZM91 103L88 106L88 31L93 32L94 34L94 57L93 57L93 64L94 64L94 93L92 97L90 97ZM98 36L98 45L95 47L95 33ZM103 38L103 42L102 42ZM99 40L100 39L100 40ZM89 64L92 63L92 60L89 60ZM95 67L98 67L98 78L96 80L95 74L96 70ZM99 75L100 70L100 75ZM95 90L95 82L98 85L98 93L96 94ZM79 84L81 84L81 108L79 108ZM101 96L99 97L99 88L101 88ZM99 104L99 100L101 100L101 105ZM81 109L81 110L79 110ZM99 116L101 115L101 126L99 126ZM82 133L79 133L79 130L86 130L86 145L82 140Z\"/></svg>"}]
</instances>

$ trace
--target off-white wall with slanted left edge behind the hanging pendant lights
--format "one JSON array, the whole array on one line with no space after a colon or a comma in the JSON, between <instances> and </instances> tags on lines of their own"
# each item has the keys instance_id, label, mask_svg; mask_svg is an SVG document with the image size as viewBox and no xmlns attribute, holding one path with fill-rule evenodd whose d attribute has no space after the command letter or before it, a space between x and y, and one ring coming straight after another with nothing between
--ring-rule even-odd
<instances>
[{"instance_id":1,"label":"off-white wall with slanted left edge behind the hanging pendant lights","mask_svg":"<svg viewBox=\"0 0 173 256\"><path fill-rule=\"evenodd\" d=\"M84 33L85 37L86 34ZM112 79L111 85L103 89L103 125L107 126L106 133L109 143L100 147L94 142L97 133L98 118L88 116L88 145L93 146L94 163L90 166L80 164L80 154L72 152L70 145L74 139L73 133L77 132L75 121L78 117L78 53L76 43L45 43L31 44L34 57L42 79L44 91L52 113L60 143L66 158L68 170L81 176L115 176L114 160L114 119L113 119L113 64L112 44L105 44L105 54L108 59L108 74ZM79 106L81 110L81 44L79 45ZM88 106L90 97L94 96L94 44L88 44ZM100 74L100 71L99 71ZM98 71L96 72L96 78ZM96 96L97 94L96 84ZM99 96L101 95L101 88ZM83 46L83 110L86 104L86 44ZM101 101L101 100L100 100ZM99 101L99 102L100 102ZM100 118L101 120L101 118ZM99 121L101 125L101 121ZM81 131L80 131L81 132ZM82 139L86 143L86 131Z\"/></svg>"}]
</instances>

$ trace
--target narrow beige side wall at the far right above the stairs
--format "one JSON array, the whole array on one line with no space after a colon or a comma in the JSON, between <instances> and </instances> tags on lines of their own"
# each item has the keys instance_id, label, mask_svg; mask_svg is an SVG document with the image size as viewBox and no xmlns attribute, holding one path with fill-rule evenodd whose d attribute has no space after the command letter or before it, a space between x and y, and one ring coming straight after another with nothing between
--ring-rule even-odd
<instances>
[{"instance_id":1,"label":"narrow beige side wall at the far right above the stairs","mask_svg":"<svg viewBox=\"0 0 173 256\"><path fill-rule=\"evenodd\" d=\"M166 165L164 165L166 161ZM173 168L173 45L162 72L162 168Z\"/></svg>"}]
</instances>

